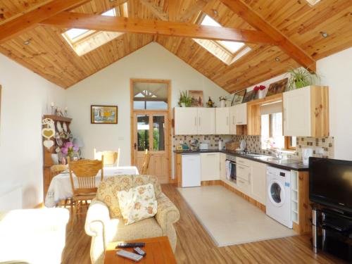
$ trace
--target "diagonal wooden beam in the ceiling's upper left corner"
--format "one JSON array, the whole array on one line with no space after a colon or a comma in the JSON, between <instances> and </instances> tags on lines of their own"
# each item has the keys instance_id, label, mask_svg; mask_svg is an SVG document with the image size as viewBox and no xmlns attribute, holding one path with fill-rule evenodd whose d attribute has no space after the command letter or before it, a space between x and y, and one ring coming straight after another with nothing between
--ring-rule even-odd
<instances>
[{"instance_id":1,"label":"diagonal wooden beam in the ceiling's upper left corner","mask_svg":"<svg viewBox=\"0 0 352 264\"><path fill-rule=\"evenodd\" d=\"M28 13L10 19L0 25L0 43L6 42L25 30L30 30L32 27L37 26L37 23L46 20L46 18L80 6L88 1L90 0L53 0Z\"/></svg>"}]
</instances>

